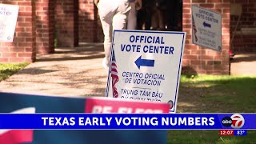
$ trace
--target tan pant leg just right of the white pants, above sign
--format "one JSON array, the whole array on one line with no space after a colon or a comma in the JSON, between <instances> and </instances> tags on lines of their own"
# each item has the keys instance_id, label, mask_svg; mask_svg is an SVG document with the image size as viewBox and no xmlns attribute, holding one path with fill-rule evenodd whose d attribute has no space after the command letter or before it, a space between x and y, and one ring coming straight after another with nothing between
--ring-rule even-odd
<instances>
[{"instance_id":1,"label":"tan pant leg just right of the white pants, above sign","mask_svg":"<svg viewBox=\"0 0 256 144\"><path fill-rule=\"evenodd\" d=\"M127 23L127 29L128 30L135 30L137 26L137 10L135 7L135 2L130 3L130 13L128 15L128 23Z\"/></svg>"}]
</instances>

